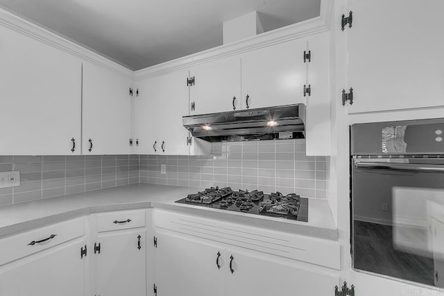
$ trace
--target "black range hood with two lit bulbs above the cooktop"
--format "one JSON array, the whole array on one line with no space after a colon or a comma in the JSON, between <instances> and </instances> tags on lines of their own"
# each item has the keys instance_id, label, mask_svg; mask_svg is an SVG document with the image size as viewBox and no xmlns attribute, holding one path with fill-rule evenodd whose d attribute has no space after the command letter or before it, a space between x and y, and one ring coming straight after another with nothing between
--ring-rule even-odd
<instances>
[{"instance_id":1,"label":"black range hood with two lit bulbs above the cooktop","mask_svg":"<svg viewBox=\"0 0 444 296\"><path fill-rule=\"evenodd\" d=\"M209 142L305 138L305 105L295 104L182 117L183 126Z\"/></svg>"}]
</instances>

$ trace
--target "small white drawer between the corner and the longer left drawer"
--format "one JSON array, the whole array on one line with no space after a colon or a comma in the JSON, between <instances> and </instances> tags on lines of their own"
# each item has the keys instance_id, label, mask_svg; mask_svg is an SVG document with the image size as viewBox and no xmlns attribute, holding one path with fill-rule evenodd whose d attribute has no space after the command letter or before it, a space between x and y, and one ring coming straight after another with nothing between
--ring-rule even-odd
<instances>
[{"instance_id":1,"label":"small white drawer between the corner and the longer left drawer","mask_svg":"<svg viewBox=\"0 0 444 296\"><path fill-rule=\"evenodd\" d=\"M96 217L98 232L145 227L145 211L119 211Z\"/></svg>"}]
</instances>

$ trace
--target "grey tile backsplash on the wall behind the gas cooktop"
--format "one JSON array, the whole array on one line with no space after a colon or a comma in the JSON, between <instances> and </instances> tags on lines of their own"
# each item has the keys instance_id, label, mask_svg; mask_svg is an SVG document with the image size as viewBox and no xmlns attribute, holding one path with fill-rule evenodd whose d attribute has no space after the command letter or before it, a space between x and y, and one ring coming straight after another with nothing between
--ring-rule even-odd
<instances>
[{"instance_id":1,"label":"grey tile backsplash on the wall behind the gas cooktop","mask_svg":"<svg viewBox=\"0 0 444 296\"><path fill-rule=\"evenodd\" d=\"M214 156L140 156L142 183L230 186L235 190L297 192L325 198L325 156L306 156L305 140L231 142L212 145ZM167 174L161 173L161 165Z\"/></svg>"}]
</instances>

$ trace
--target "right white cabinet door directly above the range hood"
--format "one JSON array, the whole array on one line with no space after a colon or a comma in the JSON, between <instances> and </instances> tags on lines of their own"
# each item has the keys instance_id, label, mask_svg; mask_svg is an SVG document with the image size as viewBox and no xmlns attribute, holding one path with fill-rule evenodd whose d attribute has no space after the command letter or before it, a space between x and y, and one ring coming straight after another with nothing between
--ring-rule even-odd
<instances>
[{"instance_id":1,"label":"right white cabinet door directly above the range hood","mask_svg":"<svg viewBox=\"0 0 444 296\"><path fill-rule=\"evenodd\" d=\"M243 54L242 108L305 104L306 50L307 40L302 38Z\"/></svg>"}]
</instances>

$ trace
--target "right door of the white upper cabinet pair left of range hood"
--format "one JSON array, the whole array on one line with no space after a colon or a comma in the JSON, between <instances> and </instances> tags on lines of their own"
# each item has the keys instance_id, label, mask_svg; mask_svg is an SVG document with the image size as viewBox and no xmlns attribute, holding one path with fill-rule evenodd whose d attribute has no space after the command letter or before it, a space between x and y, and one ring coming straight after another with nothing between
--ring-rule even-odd
<instances>
[{"instance_id":1,"label":"right door of the white upper cabinet pair left of range hood","mask_svg":"<svg viewBox=\"0 0 444 296\"><path fill-rule=\"evenodd\" d=\"M182 124L182 116L188 115L188 87L184 83L187 71L175 71L159 76L157 101L160 119L155 124L159 130L158 149L163 155L188 155L188 131Z\"/></svg>"}]
</instances>

